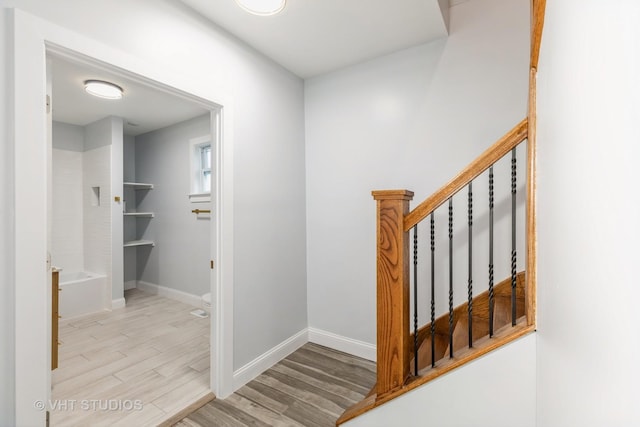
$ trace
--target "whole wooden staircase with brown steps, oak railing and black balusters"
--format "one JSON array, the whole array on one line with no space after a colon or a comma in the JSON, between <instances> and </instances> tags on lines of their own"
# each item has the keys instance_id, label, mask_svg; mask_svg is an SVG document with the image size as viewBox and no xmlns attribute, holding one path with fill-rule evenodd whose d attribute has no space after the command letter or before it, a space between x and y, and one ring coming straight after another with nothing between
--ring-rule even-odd
<instances>
[{"instance_id":1,"label":"whole wooden staircase with brown steps, oak railing and black balusters","mask_svg":"<svg viewBox=\"0 0 640 427\"><path fill-rule=\"evenodd\" d=\"M379 405L389 402L459 366L477 359L499 347L535 331L536 312L536 73L542 27L544 23L545 0L532 0L531 60L529 79L528 116L489 147L450 182L424 200L413 210L409 203L413 192L408 190L374 191L377 202L377 378L376 385L367 397L347 409L336 425L349 421ZM526 141L526 142L525 142ZM517 219L517 150L525 146L525 193L524 221ZM510 217L503 211L494 213L494 166L508 162L511 154L511 195L504 205L511 205ZM474 181L488 176L489 208L488 218L488 289L478 291L472 279L474 259L478 248L474 246L473 193L477 188ZM458 301L454 307L454 270L460 274L461 268L454 267L453 245L453 199L465 196L468 189L468 287L464 303ZM510 199L510 200L509 200ZM443 295L443 276L435 279L434 270L442 269L442 263L435 261L434 216L447 209L448 203L448 295ZM494 217L498 220L494 221ZM445 214L440 218L446 217ZM483 216L484 220L484 216ZM424 267L418 265L418 234L429 235L431 274L430 281L419 278L418 272ZM458 221L459 222L459 221ZM504 226L510 222L511 251L510 275L494 284L494 225ZM516 224L524 222L523 230ZM483 224L484 226L484 224ZM419 229L422 231L419 233ZM504 228L504 227L503 227ZM426 233L425 233L426 229ZM500 231L498 232L500 233ZM458 228L455 233L461 234ZM411 236L413 239L411 239ZM457 237L457 241L459 238ZM497 240L502 242L502 236ZM524 270L517 272L517 241L524 239ZM413 252L411 249L413 241ZM440 245L442 246L442 245ZM445 245L446 246L446 245ZM477 245L476 245L477 246ZM424 245L423 245L424 249ZM457 247L459 249L459 247ZM483 250L485 250L483 248ZM424 252L424 251L423 251ZM498 255L502 256L502 255ZM413 274L410 265L413 261ZM522 261L520 261L522 263ZM437 267L436 267L437 265ZM446 281L446 280L445 280ZM421 317L418 303L418 289L428 289L430 282L430 322L418 327ZM436 282L439 282L436 287ZM460 279L456 276L455 295L460 298ZM413 289L412 289L413 286ZM437 291L436 291L437 290ZM420 291L422 295L423 291ZM448 296L448 312L435 317L435 300L442 304ZM413 310L411 310L413 303ZM424 307L423 307L424 308ZM428 311L428 310L427 310ZM422 315L423 317L423 315Z\"/></svg>"}]
</instances>

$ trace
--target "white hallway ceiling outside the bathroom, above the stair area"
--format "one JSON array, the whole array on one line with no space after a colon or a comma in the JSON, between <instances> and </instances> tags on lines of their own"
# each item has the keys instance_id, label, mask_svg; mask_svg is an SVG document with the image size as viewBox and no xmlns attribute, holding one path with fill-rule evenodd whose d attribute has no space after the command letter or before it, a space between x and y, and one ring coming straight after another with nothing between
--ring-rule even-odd
<instances>
[{"instance_id":1,"label":"white hallway ceiling outside the bathroom, above the stair area","mask_svg":"<svg viewBox=\"0 0 640 427\"><path fill-rule=\"evenodd\" d=\"M302 78L445 37L448 9L466 0L287 0L254 16L235 0L181 0Z\"/></svg>"}]
</instances>

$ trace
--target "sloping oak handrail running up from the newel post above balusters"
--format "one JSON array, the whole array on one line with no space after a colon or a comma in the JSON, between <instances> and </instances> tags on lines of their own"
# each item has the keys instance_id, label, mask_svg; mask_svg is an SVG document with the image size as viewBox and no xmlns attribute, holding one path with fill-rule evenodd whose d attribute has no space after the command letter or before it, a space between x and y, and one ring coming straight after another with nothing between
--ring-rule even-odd
<instances>
[{"instance_id":1,"label":"sloping oak handrail running up from the newel post above balusters","mask_svg":"<svg viewBox=\"0 0 640 427\"><path fill-rule=\"evenodd\" d=\"M425 219L431 212L449 200L451 196L460 191L465 185L477 178L482 172L487 170L492 164L500 160L513 147L527 138L527 119L518 123L498 142L489 147L484 153L467 166L455 178L433 193L431 197L420 203L409 215L404 218L404 230L411 228Z\"/></svg>"}]
</instances>

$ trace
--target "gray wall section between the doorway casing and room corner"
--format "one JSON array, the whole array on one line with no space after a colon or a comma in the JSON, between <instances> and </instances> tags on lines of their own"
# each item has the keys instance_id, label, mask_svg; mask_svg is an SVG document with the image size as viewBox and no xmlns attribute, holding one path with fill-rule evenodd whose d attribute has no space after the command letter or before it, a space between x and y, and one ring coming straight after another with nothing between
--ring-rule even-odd
<instances>
[{"instance_id":1,"label":"gray wall section between the doorway casing and room corner","mask_svg":"<svg viewBox=\"0 0 640 427\"><path fill-rule=\"evenodd\" d=\"M251 120L235 129L236 370L307 327L302 82L277 68L241 74L237 114Z\"/></svg>"}]
</instances>

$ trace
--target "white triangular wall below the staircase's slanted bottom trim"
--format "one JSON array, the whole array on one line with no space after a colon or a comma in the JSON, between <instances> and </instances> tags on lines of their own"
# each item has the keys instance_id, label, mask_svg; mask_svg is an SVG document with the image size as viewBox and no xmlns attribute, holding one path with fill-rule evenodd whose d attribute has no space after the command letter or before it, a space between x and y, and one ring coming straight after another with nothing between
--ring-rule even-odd
<instances>
[{"instance_id":1,"label":"white triangular wall below the staircase's slanted bottom trim","mask_svg":"<svg viewBox=\"0 0 640 427\"><path fill-rule=\"evenodd\" d=\"M535 386L536 336L531 334L344 425L533 427Z\"/></svg>"}]
</instances>

